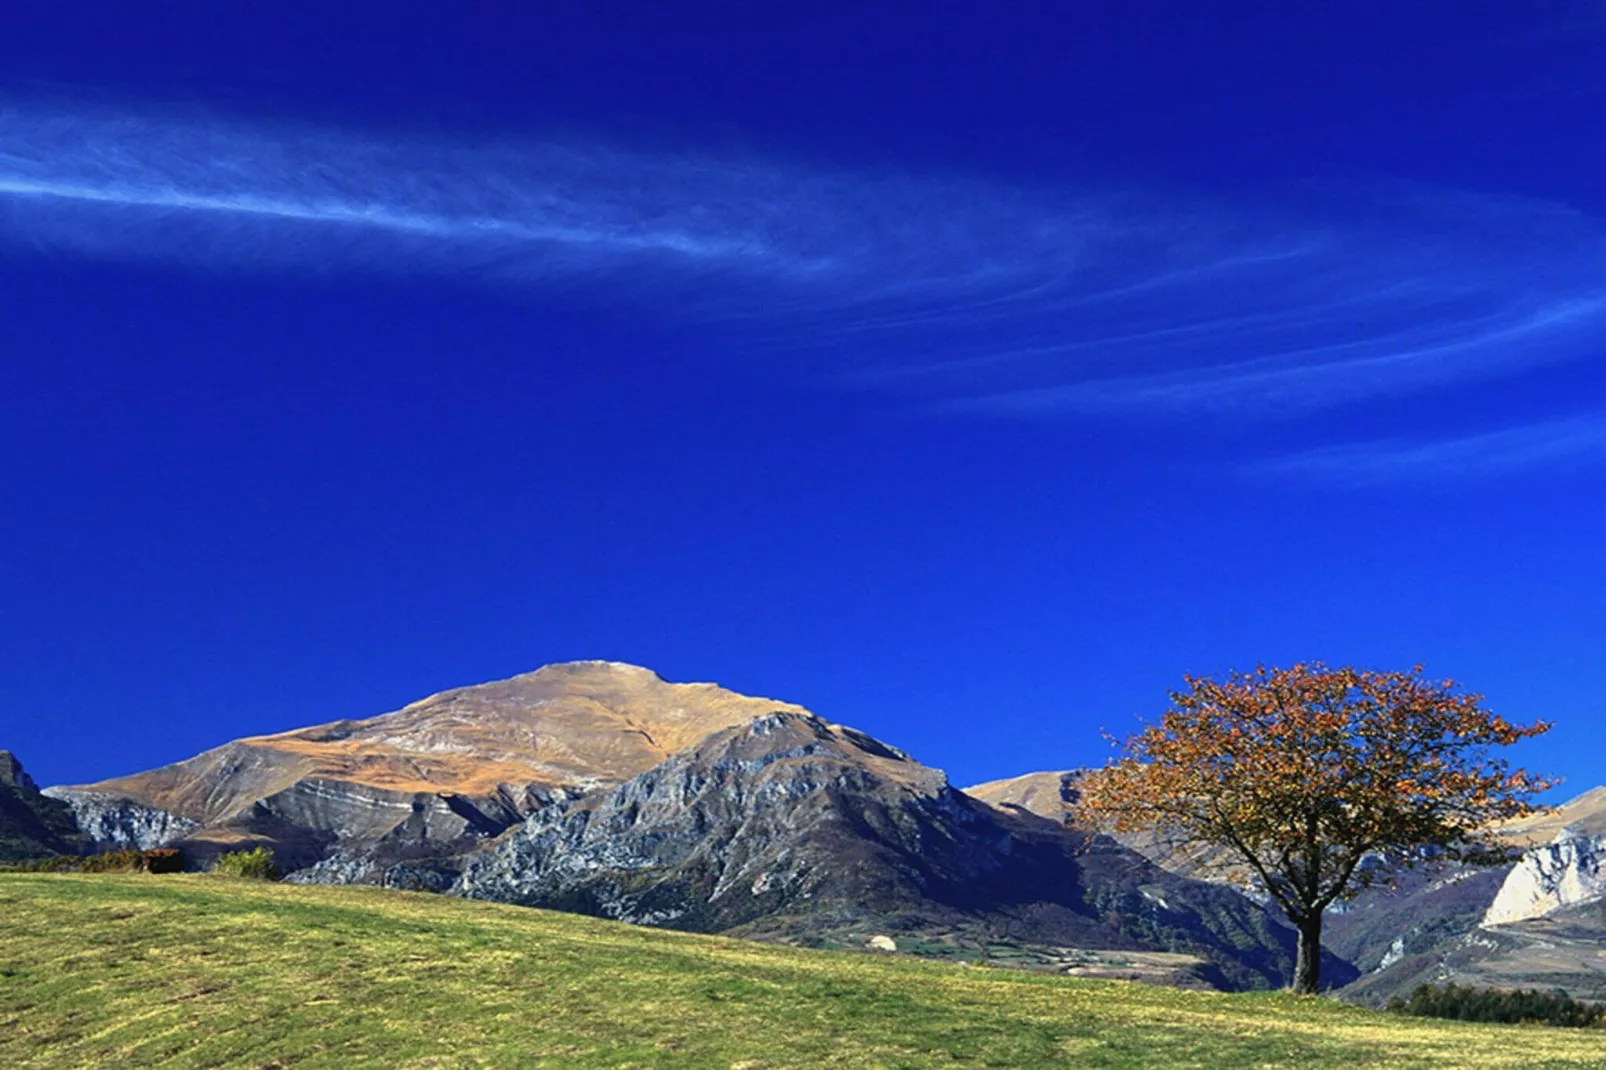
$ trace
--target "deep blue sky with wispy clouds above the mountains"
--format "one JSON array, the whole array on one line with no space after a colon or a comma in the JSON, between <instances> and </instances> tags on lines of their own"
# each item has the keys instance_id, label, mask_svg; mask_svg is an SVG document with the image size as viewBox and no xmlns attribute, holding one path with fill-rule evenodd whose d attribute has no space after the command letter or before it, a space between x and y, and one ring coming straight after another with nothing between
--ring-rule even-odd
<instances>
[{"instance_id":1,"label":"deep blue sky with wispy clouds above the mountains","mask_svg":"<svg viewBox=\"0 0 1606 1070\"><path fill-rule=\"evenodd\" d=\"M972 782L1317 657L1606 781L1606 11L811 6L24 10L0 747L605 657Z\"/></svg>"}]
</instances>

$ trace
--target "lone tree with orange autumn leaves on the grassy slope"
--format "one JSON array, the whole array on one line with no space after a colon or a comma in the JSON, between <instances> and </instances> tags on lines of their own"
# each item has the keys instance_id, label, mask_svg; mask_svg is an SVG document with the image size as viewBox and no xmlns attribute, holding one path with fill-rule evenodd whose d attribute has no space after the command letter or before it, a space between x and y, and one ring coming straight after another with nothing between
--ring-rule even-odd
<instances>
[{"instance_id":1,"label":"lone tree with orange autumn leaves on the grassy slope","mask_svg":"<svg viewBox=\"0 0 1606 1070\"><path fill-rule=\"evenodd\" d=\"M1322 913L1428 855L1510 858L1492 823L1535 813L1553 781L1490 755L1550 729L1513 725L1455 681L1261 667L1185 676L1123 757L1087 773L1092 824L1241 860L1299 932L1294 991L1314 993Z\"/></svg>"}]
</instances>

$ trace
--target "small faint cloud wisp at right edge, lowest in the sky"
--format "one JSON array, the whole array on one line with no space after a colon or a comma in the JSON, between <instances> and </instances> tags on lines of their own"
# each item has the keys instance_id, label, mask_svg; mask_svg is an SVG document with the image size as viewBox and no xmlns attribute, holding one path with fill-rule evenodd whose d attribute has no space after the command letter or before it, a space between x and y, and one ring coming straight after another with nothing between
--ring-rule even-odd
<instances>
[{"instance_id":1,"label":"small faint cloud wisp at right edge, lowest in the sky","mask_svg":"<svg viewBox=\"0 0 1606 1070\"><path fill-rule=\"evenodd\" d=\"M1465 482L1606 463L1606 415L1571 416L1474 435L1389 439L1261 461L1249 472L1336 487Z\"/></svg>"}]
</instances>

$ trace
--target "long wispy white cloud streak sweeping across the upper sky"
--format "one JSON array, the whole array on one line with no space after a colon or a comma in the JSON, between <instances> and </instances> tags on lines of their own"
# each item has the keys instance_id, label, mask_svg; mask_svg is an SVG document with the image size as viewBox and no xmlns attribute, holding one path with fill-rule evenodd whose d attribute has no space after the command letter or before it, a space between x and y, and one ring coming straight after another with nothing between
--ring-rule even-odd
<instances>
[{"instance_id":1,"label":"long wispy white cloud streak sweeping across the upper sky","mask_svg":"<svg viewBox=\"0 0 1606 1070\"><path fill-rule=\"evenodd\" d=\"M1291 416L1598 355L1606 235L1445 191L1325 210L594 143L0 109L0 243L605 286L946 411Z\"/></svg>"}]
</instances>

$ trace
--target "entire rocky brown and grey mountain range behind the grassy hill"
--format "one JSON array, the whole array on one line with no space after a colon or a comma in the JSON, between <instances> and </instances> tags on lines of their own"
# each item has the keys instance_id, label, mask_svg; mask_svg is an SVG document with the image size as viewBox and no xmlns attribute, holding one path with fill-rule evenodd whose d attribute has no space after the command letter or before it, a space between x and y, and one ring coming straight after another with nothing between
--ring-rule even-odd
<instances>
[{"instance_id":1,"label":"entire rocky brown and grey mountain range behind the grassy hill","mask_svg":"<svg viewBox=\"0 0 1606 1070\"><path fill-rule=\"evenodd\" d=\"M11 856L164 845L201 868L265 845L297 882L809 946L1229 990L1278 986L1293 967L1293 932L1221 860L1068 824L1074 773L959 790L800 705L617 662L548 665L96 784L39 792L6 760ZM24 795L26 829L8 802ZM1429 864L1367 893L1330 922L1325 978L1381 999L1425 977L1548 977L1556 964L1534 946L1593 938L1603 815L1606 792L1590 794L1513 829L1531 850L1510 871ZM1571 988L1598 980L1574 959Z\"/></svg>"}]
</instances>

